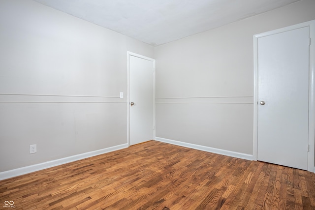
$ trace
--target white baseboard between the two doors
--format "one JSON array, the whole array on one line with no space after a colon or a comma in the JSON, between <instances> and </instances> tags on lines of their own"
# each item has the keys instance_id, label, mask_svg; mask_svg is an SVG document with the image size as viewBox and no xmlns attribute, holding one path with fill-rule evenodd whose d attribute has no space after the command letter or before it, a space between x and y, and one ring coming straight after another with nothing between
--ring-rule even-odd
<instances>
[{"instance_id":1,"label":"white baseboard between the two doors","mask_svg":"<svg viewBox=\"0 0 315 210\"><path fill-rule=\"evenodd\" d=\"M212 153L223 154L223 155L237 157L237 158L241 158L245 160L252 160L252 154L245 154L245 153L229 151L229 150L221 150L221 149L216 149L216 148L211 148L211 147L206 147L206 146L201 146L201 145L190 144L186 142L164 139L160 137L156 137L155 140L159 142L169 143L172 145L178 145L178 146L187 147L187 148L191 148L195 150L209 151Z\"/></svg>"}]
</instances>

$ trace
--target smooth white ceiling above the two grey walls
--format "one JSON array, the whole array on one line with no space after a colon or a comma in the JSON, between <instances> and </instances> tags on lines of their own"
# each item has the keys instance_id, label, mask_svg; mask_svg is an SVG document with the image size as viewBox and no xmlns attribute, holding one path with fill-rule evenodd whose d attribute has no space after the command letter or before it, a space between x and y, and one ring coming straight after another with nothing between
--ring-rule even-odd
<instances>
[{"instance_id":1,"label":"smooth white ceiling above the two grey walls","mask_svg":"<svg viewBox=\"0 0 315 210\"><path fill-rule=\"evenodd\" d=\"M35 0L153 46L299 0Z\"/></svg>"}]
</instances>

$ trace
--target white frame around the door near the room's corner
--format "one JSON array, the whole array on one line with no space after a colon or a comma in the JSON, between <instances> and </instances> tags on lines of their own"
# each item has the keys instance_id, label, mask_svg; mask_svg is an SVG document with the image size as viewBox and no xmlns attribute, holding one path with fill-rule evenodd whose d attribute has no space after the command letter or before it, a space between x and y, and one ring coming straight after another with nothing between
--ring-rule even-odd
<instances>
[{"instance_id":1,"label":"white frame around the door near the room's corner","mask_svg":"<svg viewBox=\"0 0 315 210\"><path fill-rule=\"evenodd\" d=\"M153 62L153 138L156 136L156 60L127 51L127 144L130 147L130 56Z\"/></svg>"}]
</instances>

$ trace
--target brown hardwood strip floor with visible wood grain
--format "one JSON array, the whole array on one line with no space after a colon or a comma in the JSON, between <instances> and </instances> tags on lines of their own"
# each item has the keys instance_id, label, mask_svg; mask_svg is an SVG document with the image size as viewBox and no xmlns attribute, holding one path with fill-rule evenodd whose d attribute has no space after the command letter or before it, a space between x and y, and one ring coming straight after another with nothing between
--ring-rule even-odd
<instances>
[{"instance_id":1,"label":"brown hardwood strip floor with visible wood grain","mask_svg":"<svg viewBox=\"0 0 315 210\"><path fill-rule=\"evenodd\" d=\"M5 201L23 210L315 210L315 174L149 141L2 180L0 208Z\"/></svg>"}]
</instances>

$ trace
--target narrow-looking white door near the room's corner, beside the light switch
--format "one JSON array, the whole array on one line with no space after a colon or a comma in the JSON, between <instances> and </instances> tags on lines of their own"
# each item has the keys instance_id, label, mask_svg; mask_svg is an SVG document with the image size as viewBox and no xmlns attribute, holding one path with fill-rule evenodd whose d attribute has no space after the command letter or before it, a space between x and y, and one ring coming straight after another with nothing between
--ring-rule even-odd
<instances>
[{"instance_id":1,"label":"narrow-looking white door near the room's corner, beside the light switch","mask_svg":"<svg viewBox=\"0 0 315 210\"><path fill-rule=\"evenodd\" d=\"M154 138L154 60L129 55L129 144Z\"/></svg>"}]
</instances>

